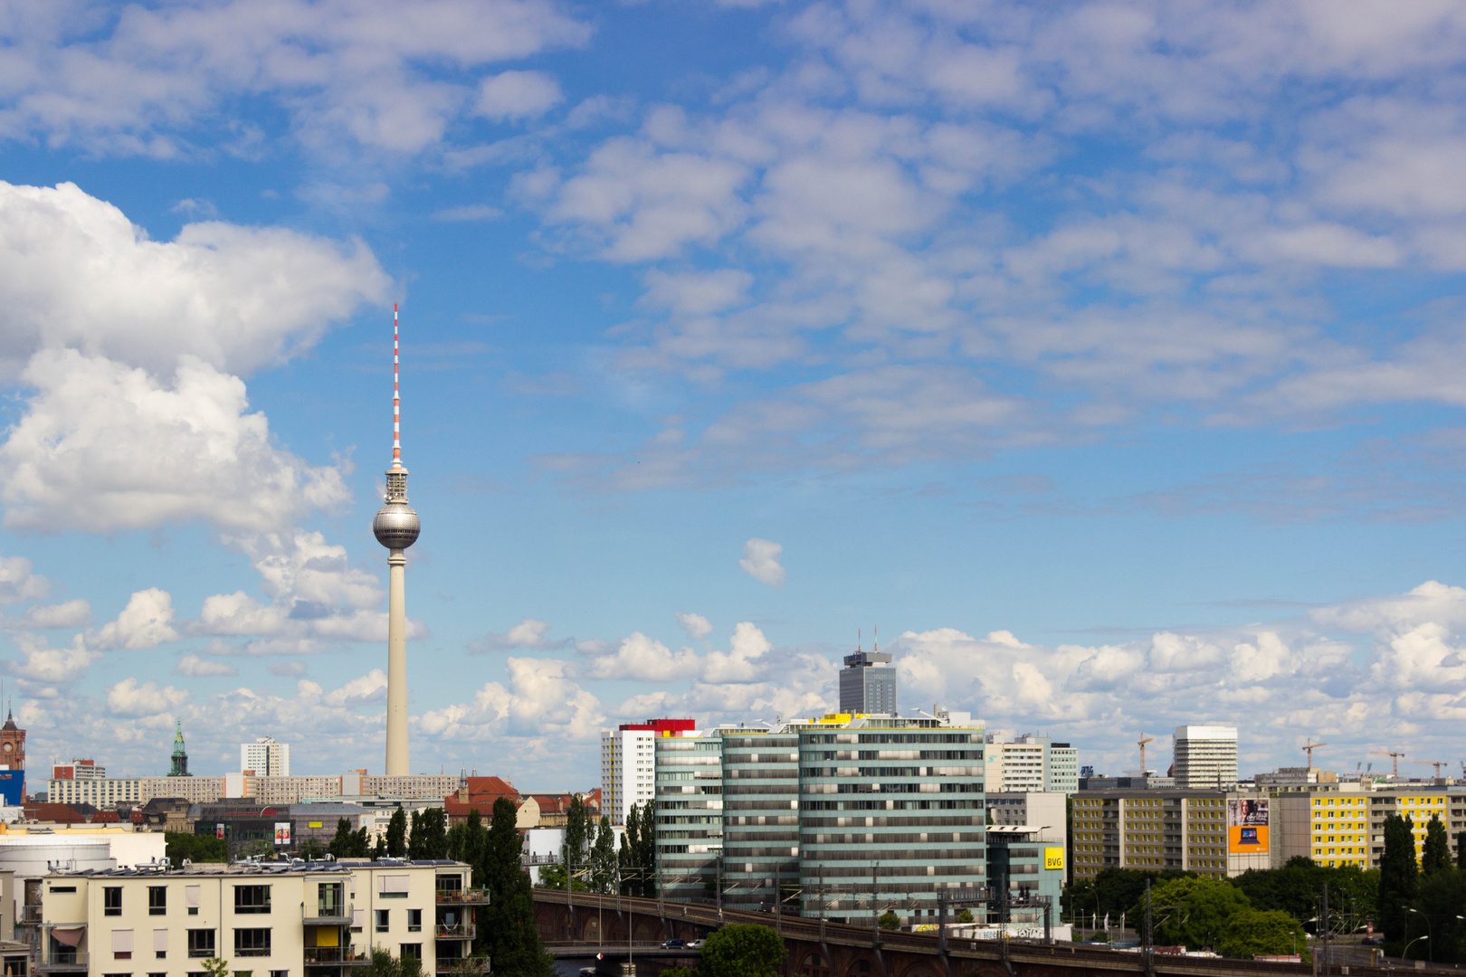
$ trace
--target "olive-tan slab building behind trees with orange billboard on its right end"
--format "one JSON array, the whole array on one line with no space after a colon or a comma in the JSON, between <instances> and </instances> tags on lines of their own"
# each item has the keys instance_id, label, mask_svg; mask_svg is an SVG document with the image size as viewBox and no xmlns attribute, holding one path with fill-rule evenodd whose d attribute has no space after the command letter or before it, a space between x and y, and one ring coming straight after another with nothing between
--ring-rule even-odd
<instances>
[{"instance_id":1,"label":"olive-tan slab building behind trees with orange billboard on its right end","mask_svg":"<svg viewBox=\"0 0 1466 977\"><path fill-rule=\"evenodd\" d=\"M1248 826L1250 832L1239 826L1237 858L1229 860L1229 800L1243 798L1224 791L1079 791L1073 807L1075 879L1092 879L1111 867L1185 869L1217 879L1270 867L1265 826L1262 832L1255 825ZM1265 807L1261 816L1267 816ZM1248 820L1246 814L1237 819Z\"/></svg>"}]
</instances>

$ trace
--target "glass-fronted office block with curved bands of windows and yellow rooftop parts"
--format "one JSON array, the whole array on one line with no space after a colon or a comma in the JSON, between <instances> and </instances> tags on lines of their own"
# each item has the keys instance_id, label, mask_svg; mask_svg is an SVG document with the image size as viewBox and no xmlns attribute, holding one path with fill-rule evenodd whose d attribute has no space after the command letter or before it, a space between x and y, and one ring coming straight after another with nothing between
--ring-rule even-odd
<instances>
[{"instance_id":1,"label":"glass-fronted office block with curved bands of windows and yellow rooftop parts","mask_svg":"<svg viewBox=\"0 0 1466 977\"><path fill-rule=\"evenodd\" d=\"M966 713L828 713L657 740L668 898L871 918L935 917L981 886L984 729Z\"/></svg>"}]
</instances>

